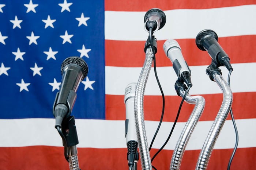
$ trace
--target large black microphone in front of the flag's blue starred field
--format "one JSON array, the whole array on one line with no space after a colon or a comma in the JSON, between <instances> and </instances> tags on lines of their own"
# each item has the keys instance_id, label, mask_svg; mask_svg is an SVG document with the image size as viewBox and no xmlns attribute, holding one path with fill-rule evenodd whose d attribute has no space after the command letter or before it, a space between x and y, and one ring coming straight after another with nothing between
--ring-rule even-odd
<instances>
[{"instance_id":1,"label":"large black microphone in front of the flag's blue starred field","mask_svg":"<svg viewBox=\"0 0 256 170\"><path fill-rule=\"evenodd\" d=\"M62 80L60 90L53 104L55 128L61 128L62 120L70 116L76 100L76 90L79 83L87 76L88 66L80 57L66 58L61 64Z\"/></svg>"}]
</instances>

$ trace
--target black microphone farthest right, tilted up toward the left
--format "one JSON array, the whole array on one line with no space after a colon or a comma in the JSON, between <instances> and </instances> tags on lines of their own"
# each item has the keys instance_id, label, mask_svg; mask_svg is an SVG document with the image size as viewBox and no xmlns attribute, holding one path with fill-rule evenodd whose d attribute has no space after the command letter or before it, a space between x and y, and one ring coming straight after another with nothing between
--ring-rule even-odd
<instances>
[{"instance_id":1,"label":"black microphone farthest right, tilted up toward the left","mask_svg":"<svg viewBox=\"0 0 256 170\"><path fill-rule=\"evenodd\" d=\"M218 43L218 35L212 30L202 30L196 36L196 46L203 51L207 51L217 67L226 66L228 70L233 70L230 58Z\"/></svg>"}]
</instances>

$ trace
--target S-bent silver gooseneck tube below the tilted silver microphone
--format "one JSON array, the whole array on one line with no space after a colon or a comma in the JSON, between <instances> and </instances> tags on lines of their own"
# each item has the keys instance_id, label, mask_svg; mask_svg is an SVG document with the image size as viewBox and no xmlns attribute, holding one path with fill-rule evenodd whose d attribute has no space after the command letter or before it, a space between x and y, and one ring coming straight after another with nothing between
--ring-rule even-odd
<instances>
[{"instance_id":1,"label":"S-bent silver gooseneck tube below the tilted silver microphone","mask_svg":"<svg viewBox=\"0 0 256 170\"><path fill-rule=\"evenodd\" d=\"M183 98L185 95L185 90L181 89L182 92L180 91L180 95ZM196 104L191 115L189 116L189 119L187 123L185 124L180 138L178 139L178 142L176 144L176 147L173 151L173 156L172 156L172 161L170 164L170 170L179 170L182 157L185 151L185 148L187 146L188 140L193 132L193 130L196 127L196 124L200 118L200 116L203 113L204 106L205 106L205 100L202 96L190 96L187 94L185 96L185 101L189 104Z\"/></svg>"}]
</instances>

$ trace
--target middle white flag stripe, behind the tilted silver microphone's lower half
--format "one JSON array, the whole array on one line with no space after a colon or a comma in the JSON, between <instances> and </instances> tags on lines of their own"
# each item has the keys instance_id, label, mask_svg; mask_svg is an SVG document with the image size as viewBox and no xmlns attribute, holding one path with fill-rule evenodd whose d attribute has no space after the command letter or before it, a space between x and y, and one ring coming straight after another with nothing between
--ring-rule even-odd
<instances>
[{"instance_id":1,"label":"middle white flag stripe, behind the tilted silver microphone's lower half","mask_svg":"<svg viewBox=\"0 0 256 170\"><path fill-rule=\"evenodd\" d=\"M170 62L171 63L171 62ZM230 84L233 93L255 92L256 86L249 85L255 83L252 77L256 63L231 64L234 71L231 74ZM208 66L190 66L192 88L189 94L215 94L222 93L219 86L210 80L206 75ZM155 80L154 68L151 68L148 77L145 95L161 95L157 81ZM124 95L125 87L131 82L138 82L142 67L112 67L106 66L106 94ZM224 80L227 81L228 71L221 67ZM172 67L157 67L158 78L166 96L177 96L174 83L177 75Z\"/></svg>"}]
</instances>

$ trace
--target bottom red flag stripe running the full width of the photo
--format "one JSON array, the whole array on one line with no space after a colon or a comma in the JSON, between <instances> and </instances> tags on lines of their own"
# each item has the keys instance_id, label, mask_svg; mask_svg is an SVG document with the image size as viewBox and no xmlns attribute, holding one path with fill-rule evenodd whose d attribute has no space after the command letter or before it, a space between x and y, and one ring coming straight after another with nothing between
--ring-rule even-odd
<instances>
[{"instance_id":1,"label":"bottom red flag stripe running the full width of the photo","mask_svg":"<svg viewBox=\"0 0 256 170\"><path fill-rule=\"evenodd\" d=\"M68 170L69 164L64 158L63 147L29 146L0 148L1 169L17 170ZM213 150L207 170L222 170L227 164L233 149ZM157 152L152 149L151 157ZM254 153L256 147L238 148L231 164L231 169L256 169ZM173 151L162 150L154 159L152 165L157 169L169 169ZM181 170L195 169L200 150L185 151L181 162ZM79 168L82 170L119 170L128 169L127 148L97 149L78 148ZM27 169L26 168L26 169ZM141 170L141 162L138 162Z\"/></svg>"}]
</instances>

